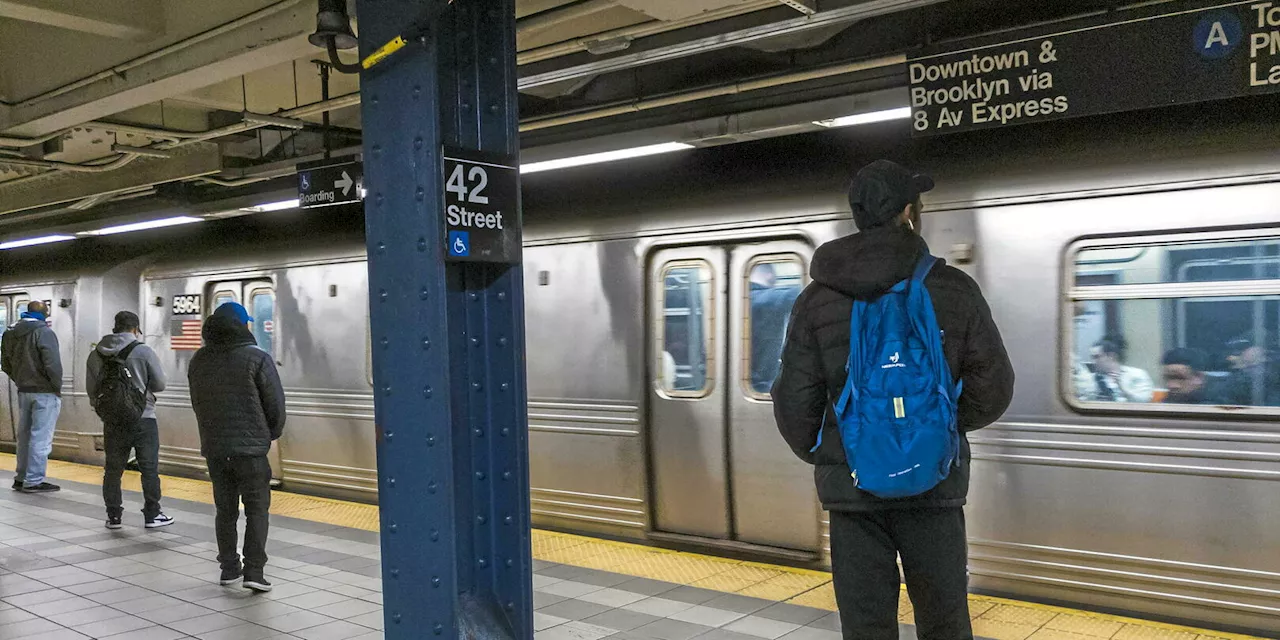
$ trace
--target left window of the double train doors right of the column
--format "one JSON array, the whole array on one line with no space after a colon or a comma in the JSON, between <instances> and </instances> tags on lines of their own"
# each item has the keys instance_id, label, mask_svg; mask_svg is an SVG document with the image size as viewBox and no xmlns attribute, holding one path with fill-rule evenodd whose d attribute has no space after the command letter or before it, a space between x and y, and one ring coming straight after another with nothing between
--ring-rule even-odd
<instances>
[{"instance_id":1,"label":"left window of the double train doors right of the column","mask_svg":"<svg viewBox=\"0 0 1280 640\"><path fill-rule=\"evenodd\" d=\"M658 375L673 397L710 390L714 276L701 260L676 261L662 270L662 324Z\"/></svg>"}]
</instances>

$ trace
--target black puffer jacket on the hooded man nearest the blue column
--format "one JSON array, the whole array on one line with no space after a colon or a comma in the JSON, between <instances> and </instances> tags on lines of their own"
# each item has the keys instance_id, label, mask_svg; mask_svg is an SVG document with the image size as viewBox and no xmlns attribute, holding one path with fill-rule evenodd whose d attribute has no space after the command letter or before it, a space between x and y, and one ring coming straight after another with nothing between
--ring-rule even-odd
<instances>
[{"instance_id":1,"label":"black puffer jacket on the hooded man nearest the blue column","mask_svg":"<svg viewBox=\"0 0 1280 640\"><path fill-rule=\"evenodd\" d=\"M207 457L266 456L284 431L284 388L271 355L244 325L210 316L187 379Z\"/></svg>"}]
</instances>

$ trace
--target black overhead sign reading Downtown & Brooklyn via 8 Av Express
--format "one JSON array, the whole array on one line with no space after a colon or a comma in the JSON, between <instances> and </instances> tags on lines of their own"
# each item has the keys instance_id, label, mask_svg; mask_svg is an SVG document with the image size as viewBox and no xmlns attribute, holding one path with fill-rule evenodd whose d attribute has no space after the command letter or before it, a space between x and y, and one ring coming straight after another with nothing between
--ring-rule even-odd
<instances>
[{"instance_id":1,"label":"black overhead sign reading Downtown & Brooklyn via 8 Av Express","mask_svg":"<svg viewBox=\"0 0 1280 640\"><path fill-rule=\"evenodd\" d=\"M1280 92L1280 0L1174 1L923 50L915 136Z\"/></svg>"}]
</instances>

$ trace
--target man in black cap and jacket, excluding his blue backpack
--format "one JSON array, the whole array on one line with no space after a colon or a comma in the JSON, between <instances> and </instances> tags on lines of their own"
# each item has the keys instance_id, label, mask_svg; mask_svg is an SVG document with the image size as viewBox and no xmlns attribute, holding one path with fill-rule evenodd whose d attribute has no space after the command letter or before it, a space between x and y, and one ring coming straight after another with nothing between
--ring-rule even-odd
<instances>
[{"instance_id":1,"label":"man in black cap and jacket, excluding his blue backpack","mask_svg":"<svg viewBox=\"0 0 1280 640\"><path fill-rule=\"evenodd\" d=\"M861 169L849 200L860 233L813 257L813 283L792 308L773 410L782 438L815 466L818 497L831 511L831 563L846 639L897 639L897 556L922 640L972 639L964 509L969 442L957 467L933 489L881 499L850 476L832 403L845 387L854 300L874 300L911 276L928 251L916 234L920 193L933 180L881 160ZM1014 370L978 284L941 261L924 280L943 334L943 355L964 380L959 429L973 431L1009 407ZM823 431L820 445L818 433Z\"/></svg>"}]
</instances>

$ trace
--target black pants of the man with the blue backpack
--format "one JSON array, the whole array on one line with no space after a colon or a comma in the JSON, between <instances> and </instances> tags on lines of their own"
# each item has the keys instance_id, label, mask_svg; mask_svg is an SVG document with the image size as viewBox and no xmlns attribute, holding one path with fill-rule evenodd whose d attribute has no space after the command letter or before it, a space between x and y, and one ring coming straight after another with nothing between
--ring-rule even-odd
<instances>
[{"instance_id":1,"label":"black pants of the man with the blue backpack","mask_svg":"<svg viewBox=\"0 0 1280 640\"><path fill-rule=\"evenodd\" d=\"M831 512L831 564L846 640L897 640L902 557L920 640L972 640L964 509Z\"/></svg>"}]
</instances>

